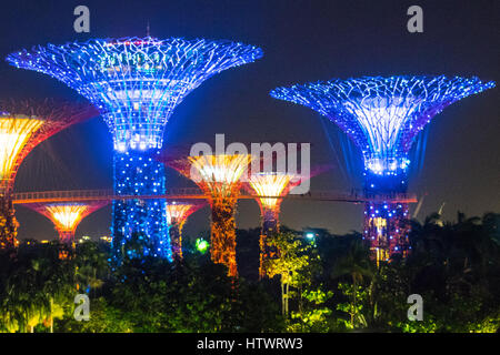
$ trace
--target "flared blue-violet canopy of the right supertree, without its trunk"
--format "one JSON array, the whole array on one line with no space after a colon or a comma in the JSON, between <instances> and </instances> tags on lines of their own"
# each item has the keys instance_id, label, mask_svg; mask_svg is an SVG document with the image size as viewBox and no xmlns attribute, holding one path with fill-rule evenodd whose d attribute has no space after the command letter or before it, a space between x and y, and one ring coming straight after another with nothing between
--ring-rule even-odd
<instances>
[{"instance_id":1,"label":"flared blue-violet canopy of the right supertree, without its trunk","mask_svg":"<svg viewBox=\"0 0 500 355\"><path fill-rule=\"evenodd\" d=\"M478 78L363 77L278 88L271 97L311 108L337 123L376 174L406 171L414 136L444 108L493 88Z\"/></svg>"}]
</instances>

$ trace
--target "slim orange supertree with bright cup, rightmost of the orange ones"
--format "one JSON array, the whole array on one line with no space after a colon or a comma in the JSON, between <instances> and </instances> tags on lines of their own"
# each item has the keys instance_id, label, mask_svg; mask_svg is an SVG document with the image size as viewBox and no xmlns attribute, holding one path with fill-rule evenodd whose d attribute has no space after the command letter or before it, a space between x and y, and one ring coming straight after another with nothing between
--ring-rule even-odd
<instances>
[{"instance_id":1,"label":"slim orange supertree with bright cup, rightmost of the orange ones","mask_svg":"<svg viewBox=\"0 0 500 355\"><path fill-rule=\"evenodd\" d=\"M276 256L277 251L267 244L268 236L279 233L279 213L283 201L279 196L287 195L290 190L299 184L300 176L284 172L262 172L252 174L246 184L247 190L257 194L262 219L260 233L260 266L259 277L266 276L264 261ZM273 197L274 196L274 197Z\"/></svg>"}]
</instances>

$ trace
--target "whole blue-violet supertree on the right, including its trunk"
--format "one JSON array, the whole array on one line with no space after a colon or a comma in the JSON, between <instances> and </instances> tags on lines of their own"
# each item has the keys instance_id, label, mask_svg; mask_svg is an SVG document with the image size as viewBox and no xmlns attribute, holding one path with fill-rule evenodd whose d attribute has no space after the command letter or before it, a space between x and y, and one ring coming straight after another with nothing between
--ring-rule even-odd
<instances>
[{"instance_id":1,"label":"whole blue-violet supertree on the right, including its trunk","mask_svg":"<svg viewBox=\"0 0 500 355\"><path fill-rule=\"evenodd\" d=\"M478 78L363 77L278 88L271 97L311 108L337 123L364 159L364 239L377 261L408 253L408 204L386 199L407 192L416 135L446 106L494 87ZM377 199L376 199L377 197Z\"/></svg>"}]
</instances>

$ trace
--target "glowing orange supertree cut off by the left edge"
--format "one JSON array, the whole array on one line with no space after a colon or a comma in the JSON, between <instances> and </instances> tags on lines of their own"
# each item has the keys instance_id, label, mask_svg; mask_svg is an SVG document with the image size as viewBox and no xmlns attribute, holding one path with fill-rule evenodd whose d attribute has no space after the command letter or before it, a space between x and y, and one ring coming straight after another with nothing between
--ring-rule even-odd
<instances>
[{"instance_id":1,"label":"glowing orange supertree cut off by the left edge","mask_svg":"<svg viewBox=\"0 0 500 355\"><path fill-rule=\"evenodd\" d=\"M0 101L0 247L13 247L18 222L12 204L16 174L23 159L42 141L71 124L98 115L90 104Z\"/></svg>"}]
</instances>

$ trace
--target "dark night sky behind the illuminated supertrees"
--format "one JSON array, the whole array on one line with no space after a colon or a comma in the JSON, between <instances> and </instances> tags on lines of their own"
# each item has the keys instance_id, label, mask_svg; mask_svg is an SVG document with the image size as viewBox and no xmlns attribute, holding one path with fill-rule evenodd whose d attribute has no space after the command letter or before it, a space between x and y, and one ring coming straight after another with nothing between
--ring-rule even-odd
<instances>
[{"instance_id":1,"label":"dark night sky behind the illuminated supertrees","mask_svg":"<svg viewBox=\"0 0 500 355\"><path fill-rule=\"evenodd\" d=\"M73 9L90 8L90 33L73 31ZM407 9L423 8L424 32L407 31ZM278 85L333 78L392 74L478 75L500 81L500 1L2 1L0 57L33 44L89 38L151 36L228 39L254 44L263 59L224 71L196 89L177 108L166 130L166 149L227 141L310 142L312 162L332 169L312 180L312 190L361 187L360 152L312 110L269 97ZM0 63L0 95L78 95L48 75ZM500 212L500 121L498 89L467 98L439 114L420 138L410 192L424 197L419 217L446 202L444 216ZM328 133L328 134L327 134ZM330 140L329 140L330 136ZM351 153L344 150L350 148ZM353 151L352 151L353 150ZM78 124L39 145L20 168L16 191L109 189L111 136L100 118ZM190 182L169 172L171 186ZM208 229L208 209L187 224L196 236ZM77 236L109 234L111 209L86 219ZM19 237L53 239L50 221L17 209ZM239 227L257 226L259 209L242 201ZM282 224L360 230L362 206L333 202L284 201Z\"/></svg>"}]
</instances>

